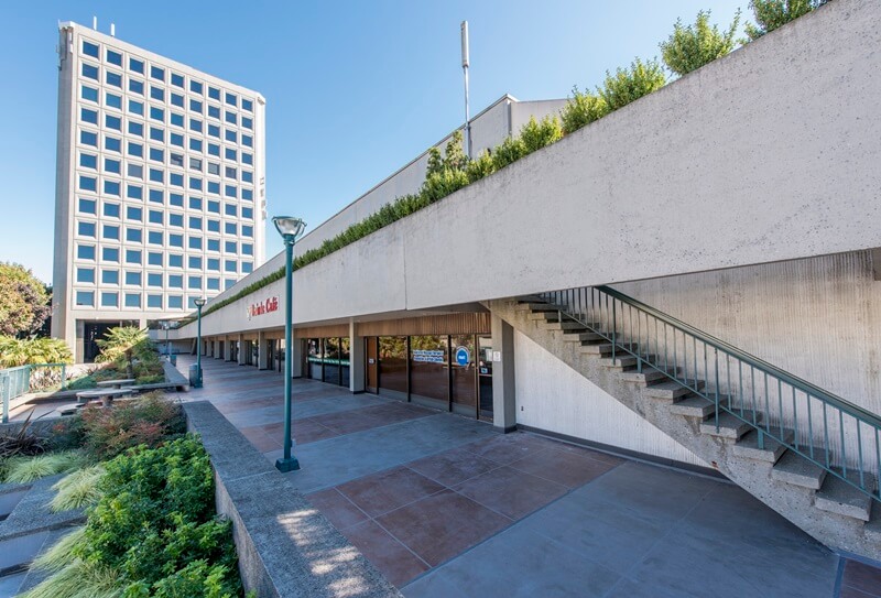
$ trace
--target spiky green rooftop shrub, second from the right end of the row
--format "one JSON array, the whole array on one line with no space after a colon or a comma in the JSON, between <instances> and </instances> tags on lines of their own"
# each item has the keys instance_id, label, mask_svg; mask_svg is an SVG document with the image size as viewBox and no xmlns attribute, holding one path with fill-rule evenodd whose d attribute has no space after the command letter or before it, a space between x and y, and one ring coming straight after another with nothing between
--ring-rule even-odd
<instances>
[{"instance_id":1,"label":"spiky green rooftop shrub, second from the right end of the row","mask_svg":"<svg viewBox=\"0 0 881 598\"><path fill-rule=\"evenodd\" d=\"M661 42L661 56L673 73L683 76L700 68L716 58L721 58L735 48L740 11L726 31L709 24L710 11L698 11L694 25L683 25L677 19L673 33L666 42Z\"/></svg>"}]
</instances>

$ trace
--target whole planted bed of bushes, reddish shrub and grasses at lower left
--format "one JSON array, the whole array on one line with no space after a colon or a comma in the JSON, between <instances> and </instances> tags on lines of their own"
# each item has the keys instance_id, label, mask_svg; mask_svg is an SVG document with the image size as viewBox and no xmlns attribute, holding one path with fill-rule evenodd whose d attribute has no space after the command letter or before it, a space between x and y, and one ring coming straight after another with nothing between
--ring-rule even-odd
<instances>
[{"instance_id":1,"label":"whole planted bed of bushes, reddish shrub and grasses at lower left","mask_svg":"<svg viewBox=\"0 0 881 598\"><path fill-rule=\"evenodd\" d=\"M214 508L208 455L178 402L145 394L88 405L46 433L0 437L0 478L54 486L54 512L86 523L40 555L48 577L22 596L233 597L242 594L231 525Z\"/></svg>"}]
</instances>

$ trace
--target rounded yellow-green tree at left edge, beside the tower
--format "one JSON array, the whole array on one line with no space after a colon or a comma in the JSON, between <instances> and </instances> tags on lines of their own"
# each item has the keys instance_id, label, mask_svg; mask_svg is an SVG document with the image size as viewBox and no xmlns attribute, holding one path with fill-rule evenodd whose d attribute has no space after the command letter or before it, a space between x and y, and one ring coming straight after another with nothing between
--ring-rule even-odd
<instances>
[{"instance_id":1,"label":"rounded yellow-green tree at left edge, beside the tower","mask_svg":"<svg viewBox=\"0 0 881 598\"><path fill-rule=\"evenodd\" d=\"M46 286L23 265L0 262L0 335L26 337L36 333L52 307Z\"/></svg>"}]
</instances>

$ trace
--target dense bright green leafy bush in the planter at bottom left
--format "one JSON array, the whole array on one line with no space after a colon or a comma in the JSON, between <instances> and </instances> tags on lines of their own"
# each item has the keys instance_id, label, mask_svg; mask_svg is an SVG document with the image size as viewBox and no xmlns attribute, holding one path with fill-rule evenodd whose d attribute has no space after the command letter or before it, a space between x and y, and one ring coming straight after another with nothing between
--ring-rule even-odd
<instances>
[{"instance_id":1,"label":"dense bright green leafy bush in the planter at bottom left","mask_svg":"<svg viewBox=\"0 0 881 598\"><path fill-rule=\"evenodd\" d=\"M104 469L85 529L34 562L54 573L28 598L241 595L231 528L215 515L214 475L197 437L133 448ZM74 588L76 577L84 589Z\"/></svg>"}]
</instances>

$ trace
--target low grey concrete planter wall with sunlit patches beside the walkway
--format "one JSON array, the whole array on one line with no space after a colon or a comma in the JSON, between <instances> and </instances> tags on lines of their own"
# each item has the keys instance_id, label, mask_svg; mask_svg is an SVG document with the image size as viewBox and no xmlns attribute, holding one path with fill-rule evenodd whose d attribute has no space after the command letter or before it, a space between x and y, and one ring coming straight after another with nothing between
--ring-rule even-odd
<instances>
[{"instance_id":1,"label":"low grey concrete planter wall with sunlit patches beside the walkway","mask_svg":"<svg viewBox=\"0 0 881 598\"><path fill-rule=\"evenodd\" d=\"M232 521L246 590L259 598L402 596L213 404L184 410L211 457L217 512Z\"/></svg>"}]
</instances>

